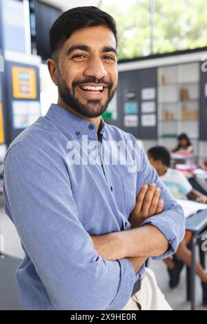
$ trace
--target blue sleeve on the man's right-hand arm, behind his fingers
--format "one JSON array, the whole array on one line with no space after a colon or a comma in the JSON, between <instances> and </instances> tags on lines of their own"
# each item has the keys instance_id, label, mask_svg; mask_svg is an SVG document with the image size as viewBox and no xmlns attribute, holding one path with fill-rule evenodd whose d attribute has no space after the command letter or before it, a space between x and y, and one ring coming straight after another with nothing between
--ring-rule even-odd
<instances>
[{"instance_id":1,"label":"blue sleeve on the man's right-hand arm, behind his fingers","mask_svg":"<svg viewBox=\"0 0 207 324\"><path fill-rule=\"evenodd\" d=\"M152 216L144 221L144 224L150 224L157 227L170 245L169 250L162 254L161 256L155 256L153 259L165 259L171 254L177 251L177 247L181 240L184 238L185 233L185 218L182 207L175 201L172 194L170 194L168 188L164 183L159 179L155 168L150 165L148 158L141 149L141 170L139 172L139 186L140 190L141 185L146 183L156 183L157 187L161 189L161 199L164 199L164 211L158 215Z\"/></svg>"}]
</instances>

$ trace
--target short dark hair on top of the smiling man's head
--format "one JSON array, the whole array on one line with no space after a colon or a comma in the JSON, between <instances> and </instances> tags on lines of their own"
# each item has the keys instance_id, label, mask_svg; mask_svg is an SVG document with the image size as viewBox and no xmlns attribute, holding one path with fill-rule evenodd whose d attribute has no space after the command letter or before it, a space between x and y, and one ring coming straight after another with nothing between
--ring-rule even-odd
<instances>
[{"instance_id":1,"label":"short dark hair on top of the smiling man's head","mask_svg":"<svg viewBox=\"0 0 207 324\"><path fill-rule=\"evenodd\" d=\"M82 28L106 26L115 35L117 42L117 28L115 19L110 14L97 7L77 7L63 12L50 28L50 51L54 55L67 41L70 35Z\"/></svg>"}]
</instances>

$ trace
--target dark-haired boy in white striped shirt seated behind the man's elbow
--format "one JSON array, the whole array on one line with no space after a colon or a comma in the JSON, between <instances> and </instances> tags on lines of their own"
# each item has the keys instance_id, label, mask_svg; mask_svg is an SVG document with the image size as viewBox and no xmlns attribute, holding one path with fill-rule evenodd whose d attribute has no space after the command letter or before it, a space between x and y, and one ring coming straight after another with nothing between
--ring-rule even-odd
<instances>
[{"instance_id":1,"label":"dark-haired boy in white striped shirt seated behind the man's elbow","mask_svg":"<svg viewBox=\"0 0 207 324\"><path fill-rule=\"evenodd\" d=\"M170 153L166 148L162 146L150 148L150 150L148 150L148 159L175 198L187 199L188 195L196 201L207 203L207 197L200 194L197 190L194 190L181 172L168 168L170 165ZM170 287L176 287L179 283L182 263L185 263L188 267L191 265L191 252L186 246L186 237L179 244L177 252L175 253L175 258L167 258L164 262L170 274ZM203 288L203 305L207 305L207 274L198 262L196 264L196 272L201 279Z\"/></svg>"}]
</instances>

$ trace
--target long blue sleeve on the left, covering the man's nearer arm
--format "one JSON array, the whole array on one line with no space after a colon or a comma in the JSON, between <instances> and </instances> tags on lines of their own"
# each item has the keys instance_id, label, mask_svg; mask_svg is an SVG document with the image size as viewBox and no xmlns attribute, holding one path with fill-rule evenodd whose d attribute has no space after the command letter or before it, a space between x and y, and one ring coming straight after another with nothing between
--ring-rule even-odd
<instances>
[{"instance_id":1,"label":"long blue sleeve on the left, covering the man's nearer arm","mask_svg":"<svg viewBox=\"0 0 207 324\"><path fill-rule=\"evenodd\" d=\"M55 309L121 310L135 271L95 251L63 161L21 142L8 151L4 172L6 207Z\"/></svg>"}]
</instances>

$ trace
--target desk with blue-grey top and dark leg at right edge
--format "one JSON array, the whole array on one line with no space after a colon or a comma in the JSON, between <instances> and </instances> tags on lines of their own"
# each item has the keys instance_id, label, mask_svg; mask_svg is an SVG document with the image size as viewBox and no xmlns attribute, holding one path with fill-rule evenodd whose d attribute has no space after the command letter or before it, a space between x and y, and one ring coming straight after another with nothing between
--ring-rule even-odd
<instances>
[{"instance_id":1,"label":"desk with blue-grey top and dark leg at right edge","mask_svg":"<svg viewBox=\"0 0 207 324\"><path fill-rule=\"evenodd\" d=\"M207 227L207 210L201 210L186 219L186 231L192 232L191 239L191 267L190 267L190 309L195 310L195 247L197 238Z\"/></svg>"}]
</instances>

